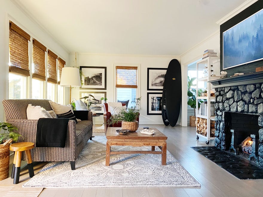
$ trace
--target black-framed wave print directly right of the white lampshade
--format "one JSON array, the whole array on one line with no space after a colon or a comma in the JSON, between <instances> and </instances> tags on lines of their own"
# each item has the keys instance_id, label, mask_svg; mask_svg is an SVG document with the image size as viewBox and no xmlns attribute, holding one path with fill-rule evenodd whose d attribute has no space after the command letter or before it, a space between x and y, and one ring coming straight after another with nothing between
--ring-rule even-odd
<instances>
[{"instance_id":1,"label":"black-framed wave print directly right of the white lampshade","mask_svg":"<svg viewBox=\"0 0 263 197\"><path fill-rule=\"evenodd\" d=\"M81 66L82 82L80 89L106 90L106 70L107 67Z\"/></svg>"}]
</instances>

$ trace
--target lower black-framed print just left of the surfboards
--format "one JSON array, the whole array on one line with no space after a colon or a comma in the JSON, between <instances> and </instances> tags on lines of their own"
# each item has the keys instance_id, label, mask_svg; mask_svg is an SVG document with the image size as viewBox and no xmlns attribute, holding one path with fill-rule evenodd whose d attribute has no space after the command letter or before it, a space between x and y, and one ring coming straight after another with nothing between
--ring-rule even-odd
<instances>
[{"instance_id":1,"label":"lower black-framed print just left of the surfboards","mask_svg":"<svg viewBox=\"0 0 263 197\"><path fill-rule=\"evenodd\" d=\"M162 115L162 93L147 93L147 115Z\"/></svg>"}]
</instances>

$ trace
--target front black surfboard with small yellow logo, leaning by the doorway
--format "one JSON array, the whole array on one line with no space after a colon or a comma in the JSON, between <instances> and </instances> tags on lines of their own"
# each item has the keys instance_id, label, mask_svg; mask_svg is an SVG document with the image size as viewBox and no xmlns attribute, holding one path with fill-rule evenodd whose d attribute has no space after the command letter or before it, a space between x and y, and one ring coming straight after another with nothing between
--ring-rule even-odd
<instances>
[{"instance_id":1,"label":"front black surfboard with small yellow logo, leaning by the doorway","mask_svg":"<svg viewBox=\"0 0 263 197\"><path fill-rule=\"evenodd\" d=\"M169 124L174 127L178 121L182 101L181 65L172 59L164 77L166 114Z\"/></svg>"}]
</instances>

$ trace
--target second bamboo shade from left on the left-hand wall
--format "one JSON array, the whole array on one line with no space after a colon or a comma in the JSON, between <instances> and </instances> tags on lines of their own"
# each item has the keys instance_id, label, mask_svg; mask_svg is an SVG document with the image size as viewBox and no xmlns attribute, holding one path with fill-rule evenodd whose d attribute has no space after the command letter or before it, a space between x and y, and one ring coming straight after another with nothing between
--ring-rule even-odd
<instances>
[{"instance_id":1,"label":"second bamboo shade from left on the left-hand wall","mask_svg":"<svg viewBox=\"0 0 263 197\"><path fill-rule=\"evenodd\" d=\"M45 52L47 47L36 39L33 39L33 74L32 78L42 81L46 80L45 75Z\"/></svg>"}]
</instances>

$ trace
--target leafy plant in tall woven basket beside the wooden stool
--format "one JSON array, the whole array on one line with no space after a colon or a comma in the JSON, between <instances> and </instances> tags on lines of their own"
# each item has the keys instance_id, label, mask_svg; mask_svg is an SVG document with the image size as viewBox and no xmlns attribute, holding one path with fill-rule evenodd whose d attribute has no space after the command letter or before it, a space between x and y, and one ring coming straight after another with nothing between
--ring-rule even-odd
<instances>
[{"instance_id":1,"label":"leafy plant in tall woven basket beside the wooden stool","mask_svg":"<svg viewBox=\"0 0 263 197\"><path fill-rule=\"evenodd\" d=\"M17 141L21 136L13 132L17 130L12 124L0 122L0 180L9 176L9 146L12 141Z\"/></svg>"}]
</instances>

